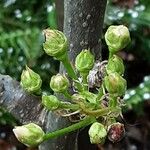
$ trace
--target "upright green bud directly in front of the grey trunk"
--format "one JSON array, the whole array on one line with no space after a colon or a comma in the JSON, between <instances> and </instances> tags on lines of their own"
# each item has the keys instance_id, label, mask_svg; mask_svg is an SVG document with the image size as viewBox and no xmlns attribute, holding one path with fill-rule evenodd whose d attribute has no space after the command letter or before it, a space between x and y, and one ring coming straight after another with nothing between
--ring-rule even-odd
<instances>
[{"instance_id":1,"label":"upright green bud directly in front of the grey trunk","mask_svg":"<svg viewBox=\"0 0 150 150\"><path fill-rule=\"evenodd\" d=\"M75 67L81 73L88 73L94 65L94 56L89 50L82 52L75 59Z\"/></svg>"}]
</instances>

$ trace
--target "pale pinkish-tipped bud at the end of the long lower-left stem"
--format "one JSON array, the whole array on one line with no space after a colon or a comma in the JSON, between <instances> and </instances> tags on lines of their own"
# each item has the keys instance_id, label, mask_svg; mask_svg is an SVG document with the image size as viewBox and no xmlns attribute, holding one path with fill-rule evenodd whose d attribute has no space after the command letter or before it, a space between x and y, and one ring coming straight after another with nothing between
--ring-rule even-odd
<instances>
[{"instance_id":1,"label":"pale pinkish-tipped bud at the end of the long lower-left stem","mask_svg":"<svg viewBox=\"0 0 150 150\"><path fill-rule=\"evenodd\" d=\"M43 142L44 131L38 125L29 123L13 129L17 139L28 147L34 147Z\"/></svg>"}]
</instances>

